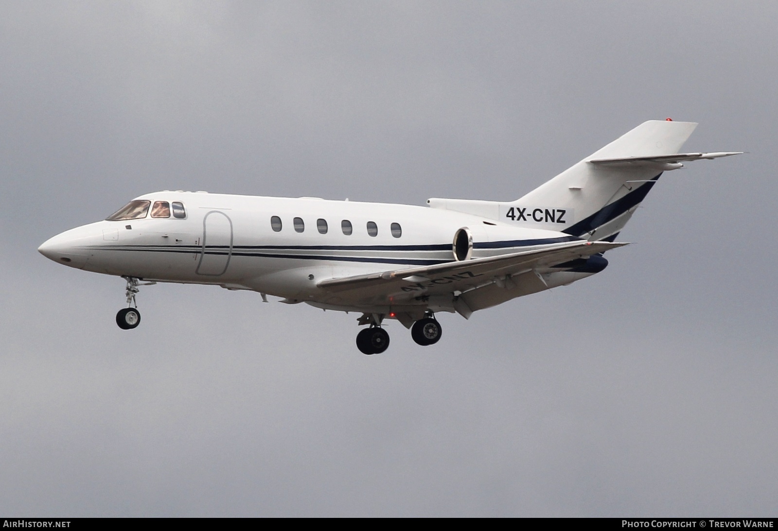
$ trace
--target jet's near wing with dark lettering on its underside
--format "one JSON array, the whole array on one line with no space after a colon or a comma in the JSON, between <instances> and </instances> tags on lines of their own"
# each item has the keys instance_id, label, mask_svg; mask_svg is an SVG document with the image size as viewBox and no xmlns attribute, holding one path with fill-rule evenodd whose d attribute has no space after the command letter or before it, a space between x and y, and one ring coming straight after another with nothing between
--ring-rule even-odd
<instances>
[{"instance_id":1,"label":"jet's near wing with dark lettering on its underside","mask_svg":"<svg viewBox=\"0 0 778 531\"><path fill-rule=\"evenodd\" d=\"M423 267L411 267L373 274L359 274L345 278L330 278L317 286L329 292L365 290L373 295L391 295L401 292L442 293L465 291L506 274L518 274L542 267L551 267L580 257L604 253L628 245L611 242L573 242L540 250L521 251L496 257L475 258L461 262L447 262ZM418 294L418 293L417 293Z\"/></svg>"}]
</instances>

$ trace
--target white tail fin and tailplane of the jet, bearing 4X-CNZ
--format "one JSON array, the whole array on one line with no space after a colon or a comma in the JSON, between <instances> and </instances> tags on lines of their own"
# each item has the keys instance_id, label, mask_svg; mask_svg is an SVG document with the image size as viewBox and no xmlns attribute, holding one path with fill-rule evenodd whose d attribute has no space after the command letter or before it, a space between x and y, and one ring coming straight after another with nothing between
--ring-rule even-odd
<instances>
[{"instance_id":1,"label":"white tail fin and tailplane of the jet, bearing 4X-CNZ","mask_svg":"<svg viewBox=\"0 0 778 531\"><path fill-rule=\"evenodd\" d=\"M680 153L696 127L693 122L644 122L516 201L433 198L427 203L612 242L664 171L682 168L682 162L740 153Z\"/></svg>"}]
</instances>

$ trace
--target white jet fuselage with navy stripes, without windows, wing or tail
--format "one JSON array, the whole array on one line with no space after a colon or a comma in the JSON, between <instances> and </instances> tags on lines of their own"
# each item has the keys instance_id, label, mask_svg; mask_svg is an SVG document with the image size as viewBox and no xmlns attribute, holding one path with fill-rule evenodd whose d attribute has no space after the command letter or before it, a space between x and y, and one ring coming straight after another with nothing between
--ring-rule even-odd
<instances>
[{"instance_id":1,"label":"white jet fuselage with navy stripes, without windows, wing or tail","mask_svg":"<svg viewBox=\"0 0 778 531\"><path fill-rule=\"evenodd\" d=\"M454 234L463 227L473 237L471 258L539 249L573 239L562 232L404 204L180 191L145 194L137 199L180 201L186 217L152 218L149 214L141 219L83 225L49 239L40 252L85 271L249 289L322 308L383 311L392 305L415 305L452 311L450 303L419 300L416 293L391 298L358 292L332 295L318 288L317 282L453 261ZM272 229L272 216L282 220L279 232ZM303 219L303 232L296 232L293 218ZM327 222L324 234L317 229L319 219ZM343 220L352 225L350 235L342 230ZM368 222L376 224L376 236L369 235ZM399 237L392 235L393 223L401 228ZM486 243L492 247L485 247ZM543 288L591 274L552 275L556 278L547 273Z\"/></svg>"}]
</instances>

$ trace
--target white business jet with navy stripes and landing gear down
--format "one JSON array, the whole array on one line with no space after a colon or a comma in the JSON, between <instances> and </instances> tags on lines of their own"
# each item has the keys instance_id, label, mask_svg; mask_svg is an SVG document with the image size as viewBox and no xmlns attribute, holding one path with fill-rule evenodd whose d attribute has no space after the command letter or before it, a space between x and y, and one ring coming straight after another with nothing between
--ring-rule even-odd
<instances>
[{"instance_id":1,"label":"white business jet with navy stripes and landing gear down","mask_svg":"<svg viewBox=\"0 0 778 531\"><path fill-rule=\"evenodd\" d=\"M516 201L405 204L164 191L38 250L58 264L127 281L119 327L138 326L139 285L219 285L358 312L365 354L386 350L398 320L420 345L437 312L465 319L587 278L661 173L734 152L678 153L697 124L647 121Z\"/></svg>"}]
</instances>

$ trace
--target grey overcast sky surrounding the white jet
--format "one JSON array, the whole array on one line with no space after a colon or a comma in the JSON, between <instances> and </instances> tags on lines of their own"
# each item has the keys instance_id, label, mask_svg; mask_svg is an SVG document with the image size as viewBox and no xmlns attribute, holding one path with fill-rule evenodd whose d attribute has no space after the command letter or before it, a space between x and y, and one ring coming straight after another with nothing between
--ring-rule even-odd
<instances>
[{"instance_id":1,"label":"grey overcast sky surrounding the white jet","mask_svg":"<svg viewBox=\"0 0 778 531\"><path fill-rule=\"evenodd\" d=\"M0 513L776 515L776 2L2 2ZM514 199L698 121L566 288L397 323L36 248L154 190Z\"/></svg>"}]
</instances>

